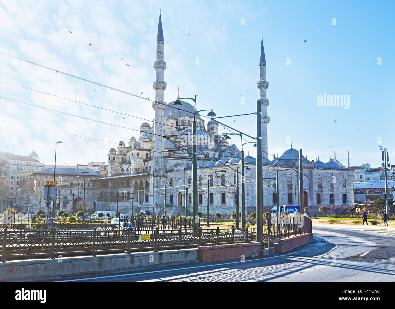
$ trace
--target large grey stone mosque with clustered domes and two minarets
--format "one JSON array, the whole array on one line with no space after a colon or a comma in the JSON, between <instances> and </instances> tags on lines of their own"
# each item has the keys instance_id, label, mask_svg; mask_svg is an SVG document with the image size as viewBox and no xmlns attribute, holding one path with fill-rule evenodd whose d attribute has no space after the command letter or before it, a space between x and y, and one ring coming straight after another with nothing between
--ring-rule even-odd
<instances>
[{"instance_id":1,"label":"large grey stone mosque with clustered domes and two minarets","mask_svg":"<svg viewBox=\"0 0 395 309\"><path fill-rule=\"evenodd\" d=\"M111 148L107 155L108 166L100 166L96 184L96 209L113 210L119 203L123 212L148 209L163 213L166 200L168 214L192 212L192 121L196 117L198 158L198 211L206 214L207 199L210 214L230 215L236 205L236 173L241 172L241 151L228 142L226 134L218 132L218 122L205 123L198 111L180 100L164 101L164 36L162 18L159 15L156 41L156 79L153 83L155 101L152 103L155 117L152 124L144 122L140 135L132 136L127 143L120 141L117 149ZM276 205L299 204L299 151L291 148L279 158L267 153L267 116L269 99L266 90L266 59L261 39L258 81L259 99L262 108L262 156L263 156L263 211L270 211ZM180 98L178 96L177 100ZM256 159L245 156L245 205L246 215L256 211ZM276 170L279 170L279 192L276 196ZM353 171L338 160L327 163L307 160L303 157L304 206L309 215L320 214L322 205L330 211L354 209ZM241 177L239 177L241 179ZM209 186L209 194L207 194ZM239 186L241 187L241 185ZM241 194L241 192L239 192ZM118 195L118 198L117 198ZM240 195L239 195L240 196ZM240 199L241 200L241 199ZM122 213L122 211L121 211Z\"/></svg>"}]
</instances>

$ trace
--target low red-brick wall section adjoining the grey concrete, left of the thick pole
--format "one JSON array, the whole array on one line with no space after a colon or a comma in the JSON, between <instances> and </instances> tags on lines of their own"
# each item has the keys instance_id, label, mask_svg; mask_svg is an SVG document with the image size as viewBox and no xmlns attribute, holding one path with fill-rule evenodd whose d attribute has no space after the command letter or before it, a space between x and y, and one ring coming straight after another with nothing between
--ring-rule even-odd
<instances>
[{"instance_id":1,"label":"low red-brick wall section adjoining the grey concrete, left of the thick pole","mask_svg":"<svg viewBox=\"0 0 395 309\"><path fill-rule=\"evenodd\" d=\"M259 256L260 243L235 243L229 245L204 246L198 248L198 259L206 261L224 261L240 259L241 255L246 258L253 255Z\"/></svg>"}]
</instances>

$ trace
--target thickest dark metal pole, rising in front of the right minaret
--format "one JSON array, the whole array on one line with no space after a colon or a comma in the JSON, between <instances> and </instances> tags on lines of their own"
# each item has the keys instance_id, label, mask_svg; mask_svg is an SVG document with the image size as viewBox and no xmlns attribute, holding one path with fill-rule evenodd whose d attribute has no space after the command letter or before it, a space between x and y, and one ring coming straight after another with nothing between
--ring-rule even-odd
<instances>
[{"instance_id":1,"label":"thickest dark metal pole, rising in front of the right minaret","mask_svg":"<svg viewBox=\"0 0 395 309\"><path fill-rule=\"evenodd\" d=\"M256 241L261 243L263 248L263 188L262 188L262 118L261 118L261 100L256 101Z\"/></svg>"}]
</instances>

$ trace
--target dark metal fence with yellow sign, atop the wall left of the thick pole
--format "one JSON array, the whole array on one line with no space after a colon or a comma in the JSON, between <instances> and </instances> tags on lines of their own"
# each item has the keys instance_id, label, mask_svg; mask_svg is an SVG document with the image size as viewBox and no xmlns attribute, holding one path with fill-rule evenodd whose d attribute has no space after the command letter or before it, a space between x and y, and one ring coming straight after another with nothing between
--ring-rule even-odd
<instances>
[{"instance_id":1,"label":"dark metal fence with yellow sign, atop the wall left of the thick pole","mask_svg":"<svg viewBox=\"0 0 395 309\"><path fill-rule=\"evenodd\" d=\"M8 230L0 232L1 262L15 258L158 251L251 241L248 229Z\"/></svg>"}]
</instances>

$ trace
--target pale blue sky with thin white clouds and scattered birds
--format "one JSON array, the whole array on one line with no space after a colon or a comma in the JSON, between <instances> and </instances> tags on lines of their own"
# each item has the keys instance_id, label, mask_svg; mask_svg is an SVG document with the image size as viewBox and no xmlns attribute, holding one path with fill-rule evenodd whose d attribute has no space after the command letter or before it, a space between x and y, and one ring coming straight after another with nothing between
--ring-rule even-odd
<instances>
[{"instance_id":1,"label":"pale blue sky with thin white clouds and scattered birds","mask_svg":"<svg viewBox=\"0 0 395 309\"><path fill-rule=\"evenodd\" d=\"M154 118L149 100L60 72L154 99L160 9L166 102L179 86L181 97L198 95L198 110L254 113L262 35L270 159L292 143L309 160L327 162L336 150L347 166L349 151L351 166L377 167L382 145L395 164L393 1L0 0L0 52L55 69L0 54L0 151L34 149L42 163L53 164L62 141L57 165L106 162L120 140L139 136L140 124ZM322 106L324 95L345 96L348 106ZM222 122L257 135L255 115ZM239 138L231 141L240 148ZM256 156L252 144L245 151Z\"/></svg>"}]
</instances>

